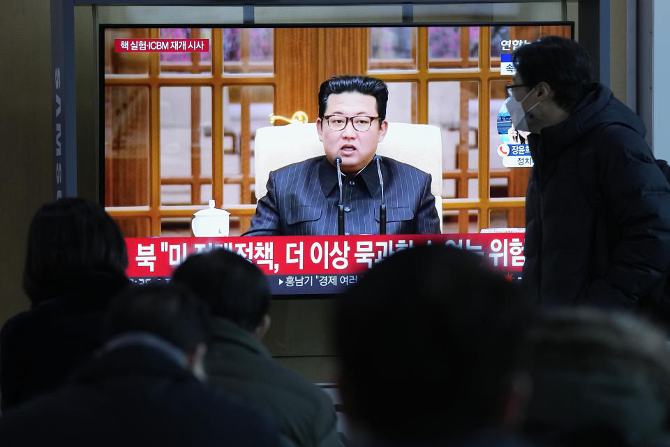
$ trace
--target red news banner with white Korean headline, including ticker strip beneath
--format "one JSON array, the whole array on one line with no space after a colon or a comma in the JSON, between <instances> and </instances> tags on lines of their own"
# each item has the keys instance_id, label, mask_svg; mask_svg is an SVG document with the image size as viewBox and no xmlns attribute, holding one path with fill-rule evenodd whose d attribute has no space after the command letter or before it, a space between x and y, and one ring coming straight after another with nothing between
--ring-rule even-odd
<instances>
[{"instance_id":1,"label":"red news banner with white Korean headline, including ticker strip beneath","mask_svg":"<svg viewBox=\"0 0 670 447\"><path fill-rule=\"evenodd\" d=\"M274 295L341 293L359 274L396 251L420 244L454 245L484 256L509 279L523 268L523 233L450 235L126 237L128 277L168 281L192 254L223 248L269 275Z\"/></svg>"}]
</instances>

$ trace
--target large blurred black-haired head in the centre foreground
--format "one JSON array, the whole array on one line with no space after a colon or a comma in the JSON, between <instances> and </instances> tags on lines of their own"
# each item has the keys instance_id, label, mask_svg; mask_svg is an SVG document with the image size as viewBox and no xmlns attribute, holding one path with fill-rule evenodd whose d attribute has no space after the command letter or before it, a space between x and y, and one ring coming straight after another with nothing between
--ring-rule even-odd
<instances>
[{"instance_id":1,"label":"large blurred black-haired head in the centre foreground","mask_svg":"<svg viewBox=\"0 0 670 447\"><path fill-rule=\"evenodd\" d=\"M390 439L495 426L529 309L480 256L443 245L398 251L341 300L335 330L346 411Z\"/></svg>"}]
</instances>

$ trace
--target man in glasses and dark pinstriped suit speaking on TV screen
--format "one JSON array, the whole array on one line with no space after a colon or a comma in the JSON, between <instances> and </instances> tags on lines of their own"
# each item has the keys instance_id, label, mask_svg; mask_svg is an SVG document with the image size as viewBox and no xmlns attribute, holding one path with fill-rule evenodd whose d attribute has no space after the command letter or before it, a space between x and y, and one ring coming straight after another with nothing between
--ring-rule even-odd
<instances>
[{"instance_id":1,"label":"man in glasses and dark pinstriped suit speaking on TV screen","mask_svg":"<svg viewBox=\"0 0 670 447\"><path fill-rule=\"evenodd\" d=\"M440 233L431 175L375 156L388 97L376 78L323 82L316 127L325 155L270 173L244 235Z\"/></svg>"}]
</instances>

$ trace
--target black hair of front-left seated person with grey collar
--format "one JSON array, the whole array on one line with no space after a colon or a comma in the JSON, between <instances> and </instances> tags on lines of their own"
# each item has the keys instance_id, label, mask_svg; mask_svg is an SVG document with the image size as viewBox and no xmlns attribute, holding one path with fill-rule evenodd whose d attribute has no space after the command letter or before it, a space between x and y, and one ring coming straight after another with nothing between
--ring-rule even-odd
<instances>
[{"instance_id":1,"label":"black hair of front-left seated person with grey collar","mask_svg":"<svg viewBox=\"0 0 670 447\"><path fill-rule=\"evenodd\" d=\"M103 318L103 338L149 332L185 353L209 341L207 305L178 284L133 286L112 301Z\"/></svg>"}]
</instances>

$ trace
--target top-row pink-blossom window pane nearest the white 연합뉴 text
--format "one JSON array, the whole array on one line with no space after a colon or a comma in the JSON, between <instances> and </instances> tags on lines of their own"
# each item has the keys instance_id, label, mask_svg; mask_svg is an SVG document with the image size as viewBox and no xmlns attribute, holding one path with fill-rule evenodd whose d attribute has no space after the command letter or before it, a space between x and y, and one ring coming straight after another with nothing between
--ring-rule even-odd
<instances>
[{"instance_id":1,"label":"top-row pink-blossom window pane nearest the white \uc5f0\ud569\ub274 text","mask_svg":"<svg viewBox=\"0 0 670 447\"><path fill-rule=\"evenodd\" d=\"M478 59L479 27L429 27L431 71L477 68Z\"/></svg>"}]
</instances>

